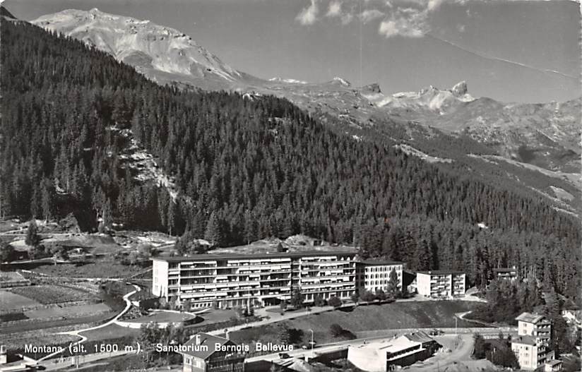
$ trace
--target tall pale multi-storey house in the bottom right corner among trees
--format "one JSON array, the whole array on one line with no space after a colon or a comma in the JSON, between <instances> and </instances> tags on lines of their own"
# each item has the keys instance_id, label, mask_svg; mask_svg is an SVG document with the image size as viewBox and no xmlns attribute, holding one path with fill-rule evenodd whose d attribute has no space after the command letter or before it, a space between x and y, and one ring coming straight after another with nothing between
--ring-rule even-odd
<instances>
[{"instance_id":1,"label":"tall pale multi-storey house in the bottom right corner among trees","mask_svg":"<svg viewBox=\"0 0 582 372\"><path fill-rule=\"evenodd\" d=\"M511 340L511 350L518 359L521 369L534 371L546 362L555 359L549 349L552 323L545 316L521 313L518 321L518 337Z\"/></svg>"}]
</instances>

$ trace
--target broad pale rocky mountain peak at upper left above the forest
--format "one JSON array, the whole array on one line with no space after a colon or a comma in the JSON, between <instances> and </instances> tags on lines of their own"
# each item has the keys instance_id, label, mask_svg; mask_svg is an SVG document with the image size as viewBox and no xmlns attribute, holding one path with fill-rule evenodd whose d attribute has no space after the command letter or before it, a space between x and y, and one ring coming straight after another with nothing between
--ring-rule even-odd
<instances>
[{"instance_id":1,"label":"broad pale rocky mountain peak at upper left above the forest","mask_svg":"<svg viewBox=\"0 0 582 372\"><path fill-rule=\"evenodd\" d=\"M41 16L32 23L82 40L134 66L153 80L206 80L219 88L242 79L191 37L149 20L117 16L93 8L68 9Z\"/></svg>"}]
</instances>

